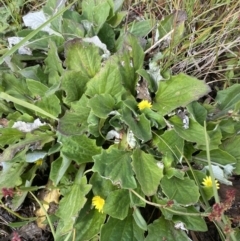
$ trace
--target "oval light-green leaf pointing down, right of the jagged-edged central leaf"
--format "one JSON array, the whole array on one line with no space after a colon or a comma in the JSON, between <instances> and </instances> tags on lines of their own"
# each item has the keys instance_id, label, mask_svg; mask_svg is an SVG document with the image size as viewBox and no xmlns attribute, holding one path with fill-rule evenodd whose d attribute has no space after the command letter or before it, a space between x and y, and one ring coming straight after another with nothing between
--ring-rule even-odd
<instances>
[{"instance_id":1,"label":"oval light-green leaf pointing down, right of the jagged-edged central leaf","mask_svg":"<svg viewBox=\"0 0 240 241\"><path fill-rule=\"evenodd\" d=\"M163 167L158 167L152 155L136 149L133 152L133 170L143 193L146 196L154 195L163 177Z\"/></svg>"}]
</instances>

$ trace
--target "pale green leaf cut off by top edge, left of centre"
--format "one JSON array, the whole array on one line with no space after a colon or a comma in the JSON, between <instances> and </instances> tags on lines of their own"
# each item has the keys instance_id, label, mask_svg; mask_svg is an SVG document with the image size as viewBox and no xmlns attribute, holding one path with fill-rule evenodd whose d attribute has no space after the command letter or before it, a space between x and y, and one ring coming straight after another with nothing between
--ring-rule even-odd
<instances>
[{"instance_id":1,"label":"pale green leaf cut off by top edge, left of centre","mask_svg":"<svg viewBox=\"0 0 240 241\"><path fill-rule=\"evenodd\" d=\"M95 34L102 28L106 22L111 6L108 0L94 1L84 0L82 3L82 16L94 26Z\"/></svg>"}]
</instances>

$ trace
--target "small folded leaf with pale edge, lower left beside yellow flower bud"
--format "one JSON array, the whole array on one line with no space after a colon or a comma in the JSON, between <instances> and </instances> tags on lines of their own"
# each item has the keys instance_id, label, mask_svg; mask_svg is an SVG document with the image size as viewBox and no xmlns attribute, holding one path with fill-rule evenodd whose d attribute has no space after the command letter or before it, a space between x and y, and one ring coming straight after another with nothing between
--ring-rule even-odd
<instances>
[{"instance_id":1,"label":"small folded leaf with pale edge, lower left beside yellow flower bud","mask_svg":"<svg viewBox=\"0 0 240 241\"><path fill-rule=\"evenodd\" d=\"M54 185L57 186L63 175L67 171L68 167L71 164L71 160L69 160L64 155L57 158L54 162L51 163L50 170L50 179L53 181Z\"/></svg>"}]
</instances>

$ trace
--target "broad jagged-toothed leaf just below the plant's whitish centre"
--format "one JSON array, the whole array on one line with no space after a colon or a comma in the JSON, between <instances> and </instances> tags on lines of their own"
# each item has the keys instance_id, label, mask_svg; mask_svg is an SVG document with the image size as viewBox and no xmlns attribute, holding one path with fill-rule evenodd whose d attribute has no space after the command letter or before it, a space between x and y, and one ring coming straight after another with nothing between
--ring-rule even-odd
<instances>
[{"instance_id":1,"label":"broad jagged-toothed leaf just below the plant's whitish centre","mask_svg":"<svg viewBox=\"0 0 240 241\"><path fill-rule=\"evenodd\" d=\"M122 188L136 188L137 184L131 167L131 153L111 148L102 150L100 155L94 156L93 171L102 177L110 179L114 185Z\"/></svg>"}]
</instances>

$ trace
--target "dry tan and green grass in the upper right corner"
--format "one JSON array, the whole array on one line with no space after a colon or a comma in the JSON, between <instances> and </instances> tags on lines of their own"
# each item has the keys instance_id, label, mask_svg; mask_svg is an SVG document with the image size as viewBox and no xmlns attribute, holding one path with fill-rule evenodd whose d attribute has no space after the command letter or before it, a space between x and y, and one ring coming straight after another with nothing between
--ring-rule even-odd
<instances>
[{"instance_id":1,"label":"dry tan and green grass in the upper right corner","mask_svg":"<svg viewBox=\"0 0 240 241\"><path fill-rule=\"evenodd\" d=\"M240 2L233 1L126 1L129 19L153 19L157 24L176 10L187 13L185 29L176 42L174 34L166 47L163 72L184 72L208 82L231 85L240 76ZM177 28L177 24L173 26ZM153 29L154 36L156 29ZM154 44L153 37L151 39Z\"/></svg>"}]
</instances>

